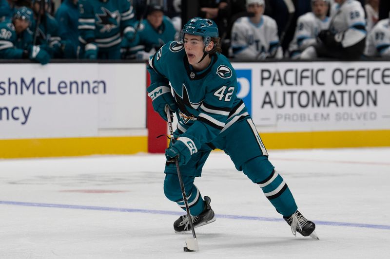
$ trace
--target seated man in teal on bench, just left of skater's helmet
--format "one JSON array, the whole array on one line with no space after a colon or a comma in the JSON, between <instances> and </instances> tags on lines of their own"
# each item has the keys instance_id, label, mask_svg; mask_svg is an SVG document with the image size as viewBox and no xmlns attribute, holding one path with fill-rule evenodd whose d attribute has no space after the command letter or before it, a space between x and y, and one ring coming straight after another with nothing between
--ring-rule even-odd
<instances>
[{"instance_id":1,"label":"seated man in teal on bench, just left of skater's helmet","mask_svg":"<svg viewBox=\"0 0 390 259\"><path fill-rule=\"evenodd\" d=\"M137 25L135 25L137 27ZM122 41L121 52L126 53L127 58L135 56L137 59L147 60L155 54L162 45L175 39L176 30L171 19L164 16L161 5L151 4L147 7L146 19L142 21L137 31L137 40L129 42L126 38ZM132 53L130 50L138 50Z\"/></svg>"}]
</instances>

